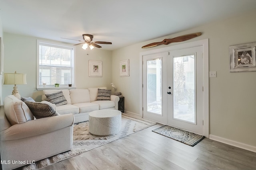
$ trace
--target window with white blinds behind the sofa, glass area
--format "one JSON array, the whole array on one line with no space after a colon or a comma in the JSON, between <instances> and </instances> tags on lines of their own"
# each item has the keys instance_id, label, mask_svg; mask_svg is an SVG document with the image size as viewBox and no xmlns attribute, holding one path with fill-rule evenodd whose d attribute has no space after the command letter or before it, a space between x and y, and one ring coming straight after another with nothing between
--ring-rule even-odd
<instances>
[{"instance_id":1,"label":"window with white blinds behind the sofa, glass area","mask_svg":"<svg viewBox=\"0 0 256 170\"><path fill-rule=\"evenodd\" d=\"M37 47L37 88L74 84L74 48L43 41L37 41Z\"/></svg>"}]
</instances>

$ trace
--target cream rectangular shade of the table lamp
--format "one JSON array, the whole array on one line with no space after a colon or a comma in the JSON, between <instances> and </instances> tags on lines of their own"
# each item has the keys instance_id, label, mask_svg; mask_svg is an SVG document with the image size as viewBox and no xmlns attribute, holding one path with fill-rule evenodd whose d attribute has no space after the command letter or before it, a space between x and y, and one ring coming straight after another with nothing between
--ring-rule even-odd
<instances>
[{"instance_id":1,"label":"cream rectangular shade of the table lamp","mask_svg":"<svg viewBox=\"0 0 256 170\"><path fill-rule=\"evenodd\" d=\"M5 73L4 84L27 84L26 74Z\"/></svg>"}]
</instances>

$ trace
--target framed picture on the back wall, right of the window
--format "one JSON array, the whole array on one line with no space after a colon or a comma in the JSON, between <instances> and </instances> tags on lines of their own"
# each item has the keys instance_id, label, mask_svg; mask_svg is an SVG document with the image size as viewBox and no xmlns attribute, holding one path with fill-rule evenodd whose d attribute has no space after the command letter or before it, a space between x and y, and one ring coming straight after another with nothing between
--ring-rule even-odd
<instances>
[{"instance_id":1,"label":"framed picture on the back wall, right of the window","mask_svg":"<svg viewBox=\"0 0 256 170\"><path fill-rule=\"evenodd\" d=\"M89 77L102 77L102 61L89 60Z\"/></svg>"}]
</instances>

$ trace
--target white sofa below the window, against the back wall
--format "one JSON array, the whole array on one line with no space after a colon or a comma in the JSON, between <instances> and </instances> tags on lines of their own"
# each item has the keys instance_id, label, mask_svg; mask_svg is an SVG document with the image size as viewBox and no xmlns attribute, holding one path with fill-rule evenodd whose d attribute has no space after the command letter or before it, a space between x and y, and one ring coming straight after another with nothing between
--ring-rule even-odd
<instances>
[{"instance_id":1,"label":"white sofa below the window, against the back wall","mask_svg":"<svg viewBox=\"0 0 256 170\"><path fill-rule=\"evenodd\" d=\"M118 110L119 97L111 95L110 100L99 100L98 89L106 89L106 87L88 88L88 89L71 89L61 90L68 104L55 106L54 108L59 114L74 114L74 123L89 120L89 113L99 109L116 109ZM60 90L43 90L42 103L49 103L45 94L52 94Z\"/></svg>"}]
</instances>

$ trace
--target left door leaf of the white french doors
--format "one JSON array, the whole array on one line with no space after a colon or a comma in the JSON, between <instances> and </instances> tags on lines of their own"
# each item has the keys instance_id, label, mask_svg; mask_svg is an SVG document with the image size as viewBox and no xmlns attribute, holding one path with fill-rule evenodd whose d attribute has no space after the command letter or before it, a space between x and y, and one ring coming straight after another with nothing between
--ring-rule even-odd
<instances>
[{"instance_id":1,"label":"left door leaf of the white french doors","mask_svg":"<svg viewBox=\"0 0 256 170\"><path fill-rule=\"evenodd\" d=\"M167 52L143 56L143 117L167 123Z\"/></svg>"}]
</instances>

